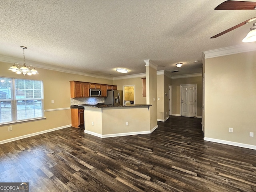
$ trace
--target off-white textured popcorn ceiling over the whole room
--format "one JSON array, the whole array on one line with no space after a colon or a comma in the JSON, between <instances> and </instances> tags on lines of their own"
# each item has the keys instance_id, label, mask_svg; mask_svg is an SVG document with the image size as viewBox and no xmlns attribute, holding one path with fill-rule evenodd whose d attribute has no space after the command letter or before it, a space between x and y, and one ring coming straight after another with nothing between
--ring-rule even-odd
<instances>
[{"instance_id":1,"label":"off-white textured popcorn ceiling over the whole room","mask_svg":"<svg viewBox=\"0 0 256 192\"><path fill-rule=\"evenodd\" d=\"M0 55L22 62L26 46L29 64L109 77L127 75L115 71L120 67L144 73L147 59L157 70L179 70L175 75L198 73L204 51L243 44L252 23L211 36L256 16L256 10L214 10L221 2L0 0Z\"/></svg>"}]
</instances>

